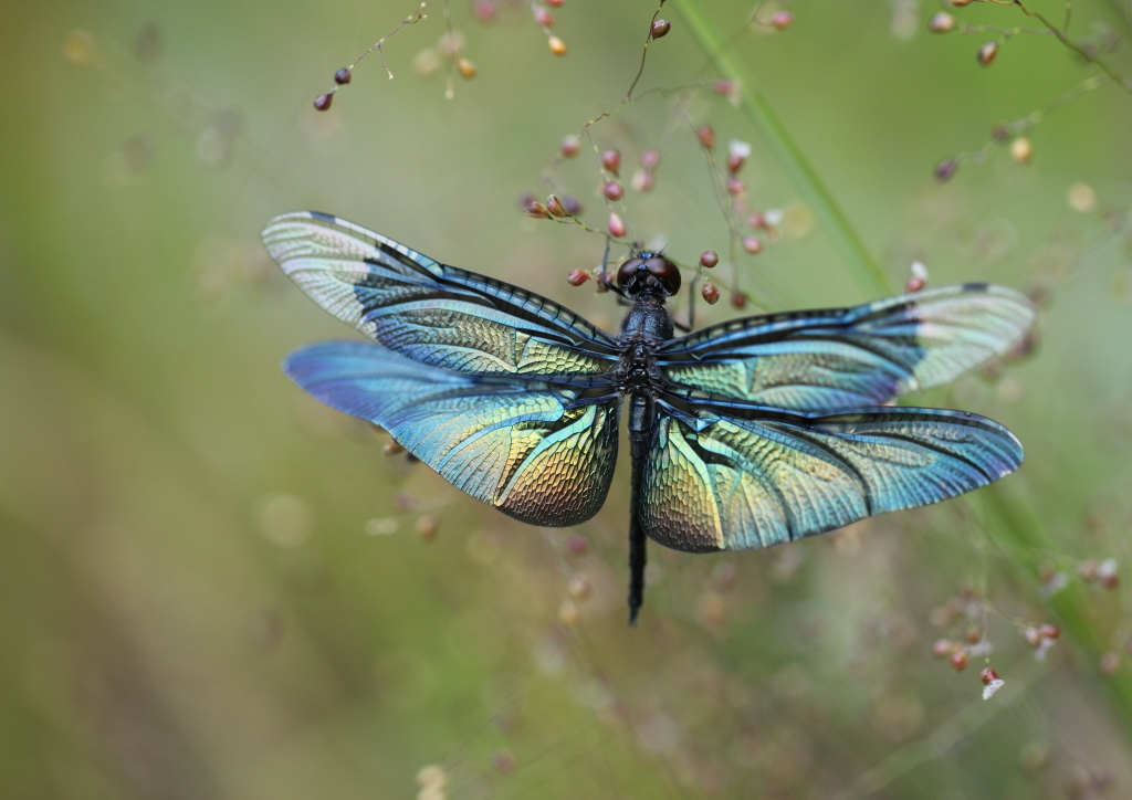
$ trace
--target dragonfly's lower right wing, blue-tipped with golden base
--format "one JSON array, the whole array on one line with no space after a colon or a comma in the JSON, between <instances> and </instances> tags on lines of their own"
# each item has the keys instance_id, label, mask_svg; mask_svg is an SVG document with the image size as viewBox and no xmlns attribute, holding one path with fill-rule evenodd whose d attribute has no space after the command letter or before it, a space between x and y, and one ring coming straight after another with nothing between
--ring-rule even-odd
<instances>
[{"instance_id":1,"label":"dragonfly's lower right wing, blue-tipped with golden base","mask_svg":"<svg viewBox=\"0 0 1132 800\"><path fill-rule=\"evenodd\" d=\"M961 411L822 414L668 401L635 513L651 539L675 550L790 542L962 494L1022 463L1009 430Z\"/></svg>"}]
</instances>

